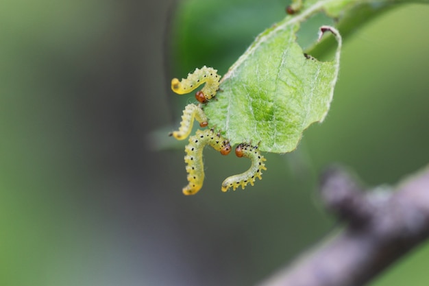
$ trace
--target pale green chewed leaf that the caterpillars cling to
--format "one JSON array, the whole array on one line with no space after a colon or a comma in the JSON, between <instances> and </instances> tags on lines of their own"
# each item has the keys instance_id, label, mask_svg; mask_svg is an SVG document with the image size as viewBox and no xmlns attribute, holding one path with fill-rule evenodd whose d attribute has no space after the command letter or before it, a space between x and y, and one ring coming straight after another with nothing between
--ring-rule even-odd
<instances>
[{"instance_id":1,"label":"pale green chewed leaf that the caterpillars cling to","mask_svg":"<svg viewBox=\"0 0 429 286\"><path fill-rule=\"evenodd\" d=\"M286 17L260 34L223 77L217 99L204 107L210 126L232 144L259 143L266 152L295 150L302 132L329 110L339 70L334 60L304 55L295 33L304 17ZM316 32L316 31L315 31Z\"/></svg>"}]
</instances>

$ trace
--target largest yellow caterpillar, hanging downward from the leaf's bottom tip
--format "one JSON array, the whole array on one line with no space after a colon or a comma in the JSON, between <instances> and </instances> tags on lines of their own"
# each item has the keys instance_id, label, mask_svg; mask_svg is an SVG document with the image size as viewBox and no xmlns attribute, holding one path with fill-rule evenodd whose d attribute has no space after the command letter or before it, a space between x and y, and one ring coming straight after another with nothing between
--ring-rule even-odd
<instances>
[{"instance_id":1,"label":"largest yellow caterpillar, hanging downward from the leaf's bottom tip","mask_svg":"<svg viewBox=\"0 0 429 286\"><path fill-rule=\"evenodd\" d=\"M194 195L203 187L204 164L203 149L210 145L213 149L228 155L231 152L231 145L220 133L215 133L213 129L197 130L194 136L189 137L189 144L185 147L186 172L188 172L188 185L183 188L185 195Z\"/></svg>"}]
</instances>

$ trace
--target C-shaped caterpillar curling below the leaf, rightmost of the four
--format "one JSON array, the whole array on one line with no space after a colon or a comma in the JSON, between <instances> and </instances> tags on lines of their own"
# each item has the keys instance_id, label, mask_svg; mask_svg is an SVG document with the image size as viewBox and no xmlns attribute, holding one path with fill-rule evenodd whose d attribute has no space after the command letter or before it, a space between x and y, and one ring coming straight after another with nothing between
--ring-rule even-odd
<instances>
[{"instance_id":1,"label":"C-shaped caterpillar curling below the leaf, rightmost of the four","mask_svg":"<svg viewBox=\"0 0 429 286\"><path fill-rule=\"evenodd\" d=\"M254 185L256 177L262 180L262 170L266 170L264 161L267 159L262 156L258 150L258 146L252 146L247 143L241 143L235 149L237 157L247 157L252 160L250 168L242 174L230 176L222 182L222 191L228 191L232 187L235 191L238 186L242 189L246 187L248 183Z\"/></svg>"}]
</instances>

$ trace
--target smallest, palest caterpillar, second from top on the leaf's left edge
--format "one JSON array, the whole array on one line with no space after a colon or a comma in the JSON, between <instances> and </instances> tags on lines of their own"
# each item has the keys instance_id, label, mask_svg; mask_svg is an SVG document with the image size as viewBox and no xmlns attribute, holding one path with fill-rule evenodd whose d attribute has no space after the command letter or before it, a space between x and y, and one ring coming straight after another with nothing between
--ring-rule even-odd
<instances>
[{"instance_id":1,"label":"smallest, palest caterpillar, second from top on the leaf's left edge","mask_svg":"<svg viewBox=\"0 0 429 286\"><path fill-rule=\"evenodd\" d=\"M182 122L180 122L179 130L171 132L169 136L173 136L177 140L186 139L191 133L194 119L199 122L200 127L206 127L208 125L206 114L201 107L195 104L188 104L183 110Z\"/></svg>"}]
</instances>

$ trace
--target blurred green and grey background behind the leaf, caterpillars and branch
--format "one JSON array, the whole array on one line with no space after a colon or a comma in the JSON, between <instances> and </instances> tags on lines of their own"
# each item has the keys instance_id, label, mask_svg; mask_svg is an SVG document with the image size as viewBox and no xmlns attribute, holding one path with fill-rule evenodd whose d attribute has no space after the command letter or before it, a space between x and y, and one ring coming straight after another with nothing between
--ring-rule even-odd
<instances>
[{"instance_id":1,"label":"blurred green and grey background behind the leaf, caterpillars and branch","mask_svg":"<svg viewBox=\"0 0 429 286\"><path fill-rule=\"evenodd\" d=\"M249 162L206 150L204 188L182 195L185 143L154 140L193 101L170 79L225 73L287 4L3 0L0 285L253 285L337 225L317 200L323 167L367 186L424 167L429 6L402 5L347 39L331 111L299 150L267 154L264 180L230 193L223 178ZM186 17L200 24L177 38ZM428 285L428 263L426 243L371 285Z\"/></svg>"}]
</instances>

